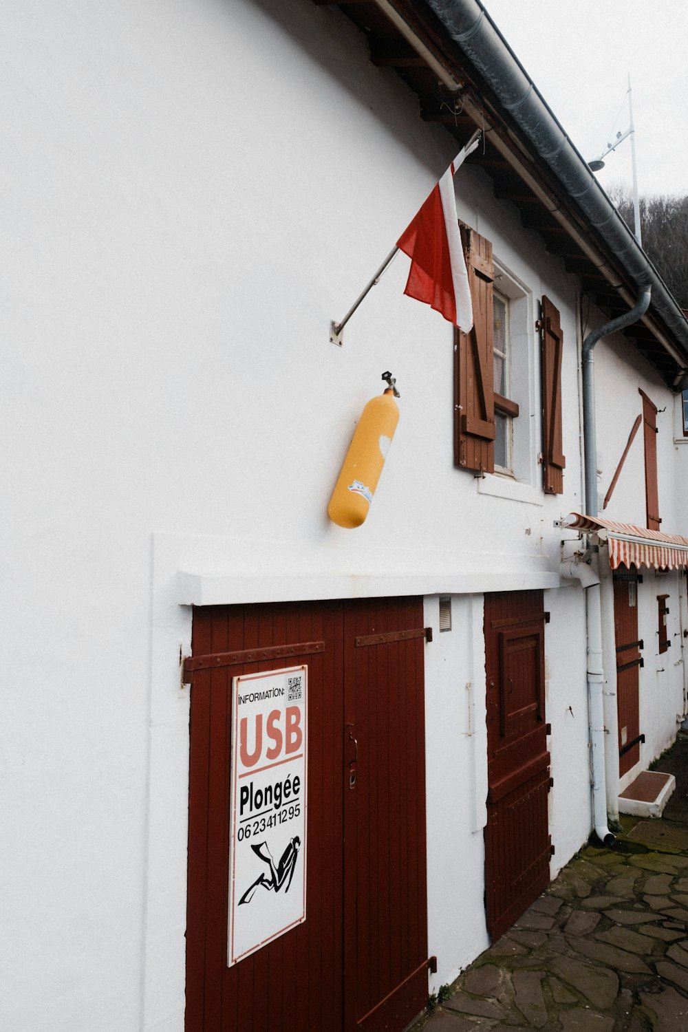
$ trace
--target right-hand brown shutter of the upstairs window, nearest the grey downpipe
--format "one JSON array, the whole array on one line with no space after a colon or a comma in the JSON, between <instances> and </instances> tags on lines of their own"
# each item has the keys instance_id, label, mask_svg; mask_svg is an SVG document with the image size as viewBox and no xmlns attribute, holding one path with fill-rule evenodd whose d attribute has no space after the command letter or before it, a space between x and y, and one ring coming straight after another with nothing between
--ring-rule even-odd
<instances>
[{"instance_id":1,"label":"right-hand brown shutter of the upstairs window, nearest the grey downpipe","mask_svg":"<svg viewBox=\"0 0 688 1032\"><path fill-rule=\"evenodd\" d=\"M561 494L564 489L566 460L561 430L561 357L563 337L559 310L549 297L543 297L542 315L543 369L543 474L547 494Z\"/></svg>"}]
</instances>

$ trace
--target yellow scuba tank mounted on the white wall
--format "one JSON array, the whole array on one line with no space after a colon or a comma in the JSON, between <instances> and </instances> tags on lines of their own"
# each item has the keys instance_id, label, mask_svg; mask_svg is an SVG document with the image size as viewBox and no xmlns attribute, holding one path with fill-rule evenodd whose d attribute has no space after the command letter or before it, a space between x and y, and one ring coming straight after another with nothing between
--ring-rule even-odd
<instances>
[{"instance_id":1,"label":"yellow scuba tank mounted on the white wall","mask_svg":"<svg viewBox=\"0 0 688 1032\"><path fill-rule=\"evenodd\" d=\"M360 526L368 515L399 422L396 381L391 373L383 373L382 378L389 386L363 409L327 507L330 519L339 526Z\"/></svg>"}]
</instances>

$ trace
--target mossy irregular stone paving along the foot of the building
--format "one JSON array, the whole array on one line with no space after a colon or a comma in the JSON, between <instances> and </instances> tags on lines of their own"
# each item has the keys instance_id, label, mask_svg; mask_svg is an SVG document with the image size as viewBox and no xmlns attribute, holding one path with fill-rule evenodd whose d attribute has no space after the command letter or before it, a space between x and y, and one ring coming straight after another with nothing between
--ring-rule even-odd
<instances>
[{"instance_id":1,"label":"mossy irregular stone paving along the foot of the building","mask_svg":"<svg viewBox=\"0 0 688 1032\"><path fill-rule=\"evenodd\" d=\"M688 828L624 818L451 990L413 1032L688 1032Z\"/></svg>"}]
</instances>

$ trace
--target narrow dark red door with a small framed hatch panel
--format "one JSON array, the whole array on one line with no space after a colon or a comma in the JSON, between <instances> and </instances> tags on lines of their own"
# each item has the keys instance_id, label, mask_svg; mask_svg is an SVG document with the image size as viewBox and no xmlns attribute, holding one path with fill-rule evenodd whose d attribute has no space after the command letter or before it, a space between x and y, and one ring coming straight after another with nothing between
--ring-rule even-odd
<instances>
[{"instance_id":1,"label":"narrow dark red door with a small framed hatch panel","mask_svg":"<svg viewBox=\"0 0 688 1032\"><path fill-rule=\"evenodd\" d=\"M485 595L487 925L497 939L550 881L542 591Z\"/></svg>"}]
</instances>

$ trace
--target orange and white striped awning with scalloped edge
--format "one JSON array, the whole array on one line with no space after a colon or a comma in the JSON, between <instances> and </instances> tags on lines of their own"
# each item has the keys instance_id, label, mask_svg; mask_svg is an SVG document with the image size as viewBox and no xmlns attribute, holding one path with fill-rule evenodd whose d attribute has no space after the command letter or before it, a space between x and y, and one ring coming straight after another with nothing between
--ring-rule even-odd
<instances>
[{"instance_id":1,"label":"orange and white striped awning with scalloped edge","mask_svg":"<svg viewBox=\"0 0 688 1032\"><path fill-rule=\"evenodd\" d=\"M566 525L593 534L599 544L607 542L612 570L622 565L654 570L688 567L688 538L678 534L661 534L633 523L615 523L581 513L570 513Z\"/></svg>"}]
</instances>

